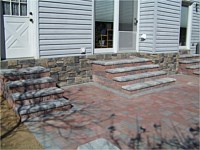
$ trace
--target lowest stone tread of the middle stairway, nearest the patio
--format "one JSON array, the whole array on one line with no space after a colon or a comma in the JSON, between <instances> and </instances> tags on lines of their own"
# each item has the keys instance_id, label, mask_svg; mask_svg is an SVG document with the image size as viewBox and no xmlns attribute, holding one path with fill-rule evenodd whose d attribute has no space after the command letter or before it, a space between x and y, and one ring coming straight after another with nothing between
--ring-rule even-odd
<instances>
[{"instance_id":1,"label":"lowest stone tread of the middle stairway, nearest the patio","mask_svg":"<svg viewBox=\"0 0 200 150\"><path fill-rule=\"evenodd\" d=\"M122 86L122 89L127 90L127 91L135 91L135 90L141 90L144 88L149 88L149 87L166 84L166 83L171 83L171 82L175 82L175 81L176 81L176 79L174 79L174 78L161 78L161 79L157 79L157 80L146 81L143 83L135 83L135 84L131 84L131 85Z\"/></svg>"}]
</instances>

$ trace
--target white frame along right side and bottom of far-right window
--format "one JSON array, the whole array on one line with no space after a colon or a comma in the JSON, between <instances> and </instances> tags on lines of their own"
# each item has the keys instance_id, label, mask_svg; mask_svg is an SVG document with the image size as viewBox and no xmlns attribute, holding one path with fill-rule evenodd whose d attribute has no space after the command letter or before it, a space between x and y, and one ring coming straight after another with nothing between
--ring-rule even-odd
<instances>
[{"instance_id":1,"label":"white frame along right side and bottom of far-right window","mask_svg":"<svg viewBox=\"0 0 200 150\"><path fill-rule=\"evenodd\" d=\"M186 31L186 46L179 46L179 50L189 50L192 36L192 14L193 4L188 6L188 23Z\"/></svg>"}]
</instances>

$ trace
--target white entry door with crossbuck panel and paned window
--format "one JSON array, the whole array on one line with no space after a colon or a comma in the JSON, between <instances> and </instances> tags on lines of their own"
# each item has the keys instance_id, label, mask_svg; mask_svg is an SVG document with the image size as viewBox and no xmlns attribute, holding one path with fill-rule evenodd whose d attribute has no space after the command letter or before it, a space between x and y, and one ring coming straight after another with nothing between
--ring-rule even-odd
<instances>
[{"instance_id":1,"label":"white entry door with crossbuck panel and paned window","mask_svg":"<svg viewBox=\"0 0 200 150\"><path fill-rule=\"evenodd\" d=\"M32 57L28 0L3 0L6 58Z\"/></svg>"}]
</instances>

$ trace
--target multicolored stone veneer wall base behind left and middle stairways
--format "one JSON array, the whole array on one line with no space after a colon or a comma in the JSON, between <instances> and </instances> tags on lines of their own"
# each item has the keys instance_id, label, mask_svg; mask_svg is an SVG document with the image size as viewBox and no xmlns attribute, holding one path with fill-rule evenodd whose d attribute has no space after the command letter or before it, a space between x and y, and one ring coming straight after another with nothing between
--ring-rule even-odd
<instances>
[{"instance_id":1,"label":"multicolored stone veneer wall base behind left and middle stairways","mask_svg":"<svg viewBox=\"0 0 200 150\"><path fill-rule=\"evenodd\" d=\"M73 56L42 59L13 59L1 62L2 69L15 69L23 67L43 66L50 68L51 77L57 80L59 86L80 84L92 81L93 60L126 59L130 56L138 56L152 59L153 63L168 73L176 73L178 70L178 53L173 54L144 54L144 53L118 53L95 54L88 56Z\"/></svg>"}]
</instances>

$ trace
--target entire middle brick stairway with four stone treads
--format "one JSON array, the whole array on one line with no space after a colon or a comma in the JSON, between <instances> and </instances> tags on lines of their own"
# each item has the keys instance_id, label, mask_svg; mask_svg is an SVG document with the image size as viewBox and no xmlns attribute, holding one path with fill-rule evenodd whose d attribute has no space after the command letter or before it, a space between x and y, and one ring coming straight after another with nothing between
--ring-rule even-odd
<instances>
[{"instance_id":1,"label":"entire middle brick stairway with four stone treads","mask_svg":"<svg viewBox=\"0 0 200 150\"><path fill-rule=\"evenodd\" d=\"M145 58L93 61L93 80L126 94L136 94L174 83L159 65Z\"/></svg>"}]
</instances>

